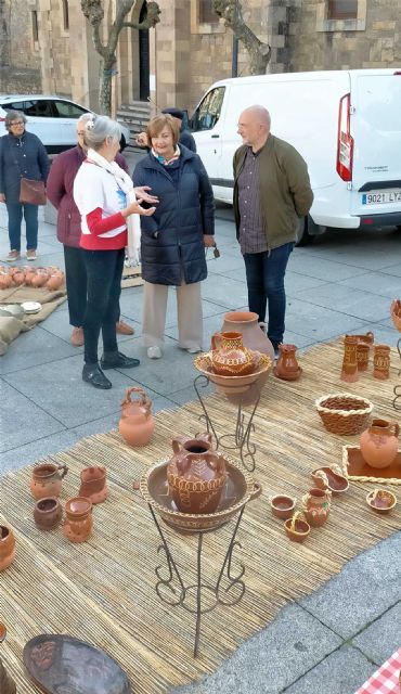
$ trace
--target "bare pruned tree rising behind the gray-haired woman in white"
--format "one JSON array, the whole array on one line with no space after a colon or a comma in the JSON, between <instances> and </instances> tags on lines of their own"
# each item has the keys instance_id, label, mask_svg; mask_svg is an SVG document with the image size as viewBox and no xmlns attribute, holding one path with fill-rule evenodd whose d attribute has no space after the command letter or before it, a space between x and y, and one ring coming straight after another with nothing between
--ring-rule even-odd
<instances>
[{"instance_id":1,"label":"bare pruned tree rising behind the gray-haired woman in white","mask_svg":"<svg viewBox=\"0 0 401 694\"><path fill-rule=\"evenodd\" d=\"M147 2L145 16L142 22L126 22L127 15L139 0L116 0L116 16L108 27L107 43L101 39L101 25L104 18L102 0L81 0L81 9L92 26L94 48L102 57L100 76L99 107L101 113L109 115L112 111L112 76L115 74L117 56L116 49L121 29L151 29L160 21L160 9L157 2Z\"/></svg>"}]
</instances>

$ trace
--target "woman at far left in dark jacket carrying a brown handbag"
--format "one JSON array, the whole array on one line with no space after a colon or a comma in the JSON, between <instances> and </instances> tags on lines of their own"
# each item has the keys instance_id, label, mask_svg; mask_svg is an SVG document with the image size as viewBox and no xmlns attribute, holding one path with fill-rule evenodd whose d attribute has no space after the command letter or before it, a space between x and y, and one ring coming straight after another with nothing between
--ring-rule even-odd
<instances>
[{"instance_id":1,"label":"woman at far left in dark jacket carrying a brown handbag","mask_svg":"<svg viewBox=\"0 0 401 694\"><path fill-rule=\"evenodd\" d=\"M7 260L21 256L21 222L26 224L26 259L36 260L38 247L38 205L20 203L21 179L46 183L49 157L39 138L25 129L26 117L21 111L9 111L5 128L9 134L0 138L0 203L9 214L10 253Z\"/></svg>"}]
</instances>

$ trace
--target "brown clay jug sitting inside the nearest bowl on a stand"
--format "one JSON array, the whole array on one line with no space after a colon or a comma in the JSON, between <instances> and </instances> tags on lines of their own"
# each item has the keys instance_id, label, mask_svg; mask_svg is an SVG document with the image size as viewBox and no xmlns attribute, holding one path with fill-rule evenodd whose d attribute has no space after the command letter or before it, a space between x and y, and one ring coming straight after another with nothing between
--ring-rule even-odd
<instances>
[{"instance_id":1,"label":"brown clay jug sitting inside the nearest bowl on a stand","mask_svg":"<svg viewBox=\"0 0 401 694\"><path fill-rule=\"evenodd\" d=\"M172 439L173 458L167 480L173 502L182 513L215 513L225 485L225 461L211 450L211 435Z\"/></svg>"}]
</instances>

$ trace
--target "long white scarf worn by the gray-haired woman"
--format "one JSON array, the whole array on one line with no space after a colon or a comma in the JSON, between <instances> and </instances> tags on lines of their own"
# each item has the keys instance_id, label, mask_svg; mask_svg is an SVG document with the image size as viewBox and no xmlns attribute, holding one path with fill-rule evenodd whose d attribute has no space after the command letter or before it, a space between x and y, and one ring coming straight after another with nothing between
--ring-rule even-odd
<instances>
[{"instance_id":1,"label":"long white scarf worn by the gray-haired woman","mask_svg":"<svg viewBox=\"0 0 401 694\"><path fill-rule=\"evenodd\" d=\"M107 162L99 152L91 149L88 150L87 159L114 176L118 188L126 194L128 204L135 202L137 196L132 180L116 162ZM126 218L126 222L128 246L126 248L125 265L127 267L134 267L140 264L141 222L139 215L129 215L129 217Z\"/></svg>"}]
</instances>

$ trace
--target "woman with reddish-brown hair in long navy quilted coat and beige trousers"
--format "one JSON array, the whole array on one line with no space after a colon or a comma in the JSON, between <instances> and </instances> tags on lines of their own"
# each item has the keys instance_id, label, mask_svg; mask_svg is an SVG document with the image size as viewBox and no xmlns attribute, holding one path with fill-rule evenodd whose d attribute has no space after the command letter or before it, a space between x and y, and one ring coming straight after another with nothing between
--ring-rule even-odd
<instances>
[{"instance_id":1,"label":"woman with reddish-brown hair in long navy quilted coat and beige trousers","mask_svg":"<svg viewBox=\"0 0 401 694\"><path fill-rule=\"evenodd\" d=\"M153 118L151 152L135 166L134 185L152 188L159 203L141 221L142 339L150 359L161 357L168 287L177 287L179 346L202 350L200 282L207 277L205 247L214 246L215 205L200 158L178 145L179 126L169 114Z\"/></svg>"}]
</instances>

